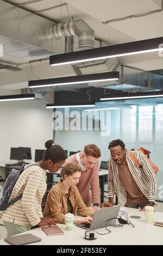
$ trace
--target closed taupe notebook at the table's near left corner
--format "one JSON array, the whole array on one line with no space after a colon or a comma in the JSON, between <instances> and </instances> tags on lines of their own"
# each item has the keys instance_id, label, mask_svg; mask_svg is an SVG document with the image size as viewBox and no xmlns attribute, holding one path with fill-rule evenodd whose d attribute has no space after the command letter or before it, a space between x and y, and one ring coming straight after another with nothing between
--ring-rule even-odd
<instances>
[{"instance_id":1,"label":"closed taupe notebook at the table's near left corner","mask_svg":"<svg viewBox=\"0 0 163 256\"><path fill-rule=\"evenodd\" d=\"M42 239L32 234L10 236L4 239L10 245L27 245L27 243L39 242Z\"/></svg>"}]
</instances>

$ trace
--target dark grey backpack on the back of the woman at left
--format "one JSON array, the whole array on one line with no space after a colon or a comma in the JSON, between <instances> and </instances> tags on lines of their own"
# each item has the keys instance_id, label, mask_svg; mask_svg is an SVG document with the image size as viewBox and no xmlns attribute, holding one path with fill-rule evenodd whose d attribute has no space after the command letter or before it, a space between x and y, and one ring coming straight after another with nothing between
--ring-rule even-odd
<instances>
[{"instance_id":1,"label":"dark grey backpack on the back of the woman at left","mask_svg":"<svg viewBox=\"0 0 163 256\"><path fill-rule=\"evenodd\" d=\"M23 170L26 170L30 166L39 166L39 164L33 163L33 164L30 164L27 168L24 168L24 166L25 164L23 163L20 169L18 170L14 168L11 169L11 172L9 173L8 178L4 182L2 195L1 195L0 211L4 211L10 205L15 204L18 200L22 198L23 193L19 194L17 197L15 197L13 200L9 202L12 190L19 176L22 174Z\"/></svg>"}]
</instances>

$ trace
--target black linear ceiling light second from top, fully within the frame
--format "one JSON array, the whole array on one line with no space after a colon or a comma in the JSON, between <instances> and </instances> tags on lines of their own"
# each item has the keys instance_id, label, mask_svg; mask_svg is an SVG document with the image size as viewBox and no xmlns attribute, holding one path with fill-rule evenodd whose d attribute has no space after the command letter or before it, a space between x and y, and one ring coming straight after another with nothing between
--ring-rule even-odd
<instances>
[{"instance_id":1,"label":"black linear ceiling light second from top, fully within the frame","mask_svg":"<svg viewBox=\"0 0 163 256\"><path fill-rule=\"evenodd\" d=\"M42 80L32 80L28 82L28 87L51 87L51 86L65 86L68 84L80 84L89 82L106 82L119 79L119 72L105 72L98 74L88 74L79 76L66 76L57 78L48 78Z\"/></svg>"}]
</instances>

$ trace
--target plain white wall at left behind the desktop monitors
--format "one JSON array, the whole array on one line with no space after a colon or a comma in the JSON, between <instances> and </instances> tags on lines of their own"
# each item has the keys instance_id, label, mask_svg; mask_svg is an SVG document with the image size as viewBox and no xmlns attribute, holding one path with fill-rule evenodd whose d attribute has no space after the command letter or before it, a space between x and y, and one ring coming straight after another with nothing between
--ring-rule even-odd
<instances>
[{"instance_id":1,"label":"plain white wall at left behind the desktop monitors","mask_svg":"<svg viewBox=\"0 0 163 256\"><path fill-rule=\"evenodd\" d=\"M34 160L35 149L44 149L53 139L52 109L54 93L43 99L0 102L0 162L8 163L11 147L30 147Z\"/></svg>"}]
</instances>

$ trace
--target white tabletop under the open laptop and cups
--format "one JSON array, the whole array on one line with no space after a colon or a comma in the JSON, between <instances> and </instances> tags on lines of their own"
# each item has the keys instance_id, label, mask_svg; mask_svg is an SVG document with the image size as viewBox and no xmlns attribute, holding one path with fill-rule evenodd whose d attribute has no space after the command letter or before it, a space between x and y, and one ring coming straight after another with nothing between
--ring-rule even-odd
<instances>
[{"instance_id":1,"label":"white tabletop under the open laptop and cups","mask_svg":"<svg viewBox=\"0 0 163 256\"><path fill-rule=\"evenodd\" d=\"M121 210L121 209L120 209ZM63 245L163 245L162 227L155 226L153 224L147 224L145 222L145 212L140 212L133 208L122 208L129 216L140 216L139 219L129 218L129 220L135 225L135 228L131 225L123 225L123 227L108 227L111 230L110 234L99 235L96 234L97 239L85 240L85 229L76 227L73 225L73 230L66 230L65 224L58 224L58 226L64 231L64 235L47 236L41 228L36 228L24 232L23 234L31 233L42 239L40 242L32 243L32 245L59 245L60 248ZM155 221L163 221L163 212L155 212ZM105 228L97 229L98 233L106 233ZM0 245L9 245L3 240L0 241ZM70 248L70 247L69 247Z\"/></svg>"}]
</instances>

